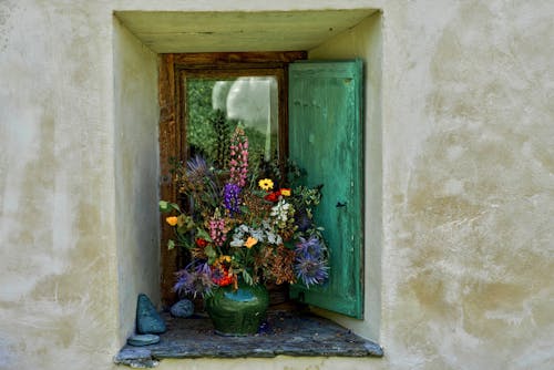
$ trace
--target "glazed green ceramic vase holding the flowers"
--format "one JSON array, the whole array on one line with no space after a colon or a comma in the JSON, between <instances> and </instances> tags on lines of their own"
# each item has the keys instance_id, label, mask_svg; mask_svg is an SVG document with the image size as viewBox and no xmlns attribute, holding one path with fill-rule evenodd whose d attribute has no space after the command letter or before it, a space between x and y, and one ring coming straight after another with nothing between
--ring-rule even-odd
<instances>
[{"instance_id":1,"label":"glazed green ceramic vase holding the flowers","mask_svg":"<svg viewBox=\"0 0 554 370\"><path fill-rule=\"evenodd\" d=\"M258 332L266 318L269 294L263 285L243 284L218 288L206 299L206 311L215 331L222 336L240 337Z\"/></svg>"}]
</instances>

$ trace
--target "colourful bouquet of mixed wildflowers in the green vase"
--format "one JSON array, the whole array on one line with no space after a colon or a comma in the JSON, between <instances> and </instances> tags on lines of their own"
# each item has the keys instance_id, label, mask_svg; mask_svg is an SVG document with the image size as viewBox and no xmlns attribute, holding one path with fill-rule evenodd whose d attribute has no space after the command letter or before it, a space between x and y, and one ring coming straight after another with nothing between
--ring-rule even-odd
<instances>
[{"instance_id":1,"label":"colourful bouquet of mixed wildflowers in the green vase","mask_svg":"<svg viewBox=\"0 0 554 370\"><path fill-rule=\"evenodd\" d=\"M222 291L229 296L267 284L324 284L328 253L312 217L320 187L290 188L278 174L261 176L248 164L248 137L240 126L228 145L229 158L220 168L202 156L177 165L181 205L160 202L175 232L168 248L184 247L191 255L176 273L174 289L203 296L209 308Z\"/></svg>"}]
</instances>

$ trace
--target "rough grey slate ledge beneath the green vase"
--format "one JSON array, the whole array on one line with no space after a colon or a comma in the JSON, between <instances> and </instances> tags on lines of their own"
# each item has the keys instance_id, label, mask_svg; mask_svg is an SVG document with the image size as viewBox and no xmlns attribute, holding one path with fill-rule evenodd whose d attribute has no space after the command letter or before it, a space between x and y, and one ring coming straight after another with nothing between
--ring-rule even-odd
<instances>
[{"instance_id":1,"label":"rough grey slate ledge beneath the green vase","mask_svg":"<svg viewBox=\"0 0 554 370\"><path fill-rule=\"evenodd\" d=\"M383 356L379 345L309 314L269 312L259 333L248 337L217 336L205 316L182 319L164 315L164 319L167 332L160 336L158 343L145 347L126 345L114 357L114 362L132 368L154 368L165 358Z\"/></svg>"}]
</instances>

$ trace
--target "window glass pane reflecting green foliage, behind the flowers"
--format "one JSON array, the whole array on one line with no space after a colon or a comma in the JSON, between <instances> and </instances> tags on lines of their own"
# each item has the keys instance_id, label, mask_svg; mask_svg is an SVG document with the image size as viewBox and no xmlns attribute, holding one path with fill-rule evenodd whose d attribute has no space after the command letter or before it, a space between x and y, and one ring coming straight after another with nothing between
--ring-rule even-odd
<instances>
[{"instance_id":1,"label":"window glass pane reflecting green foliage, behind the flowers","mask_svg":"<svg viewBox=\"0 0 554 370\"><path fill-rule=\"evenodd\" d=\"M249 162L269 161L278 153L278 93L275 76L186 79L186 143L226 166L228 141L240 124L249 141Z\"/></svg>"}]
</instances>

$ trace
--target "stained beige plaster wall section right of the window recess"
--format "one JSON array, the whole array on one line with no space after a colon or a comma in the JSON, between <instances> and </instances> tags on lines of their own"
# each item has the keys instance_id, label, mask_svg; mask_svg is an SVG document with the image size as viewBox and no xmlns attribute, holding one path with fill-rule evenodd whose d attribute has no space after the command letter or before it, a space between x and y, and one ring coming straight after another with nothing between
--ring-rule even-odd
<instances>
[{"instance_id":1,"label":"stained beige plaster wall section right of the window recess","mask_svg":"<svg viewBox=\"0 0 554 370\"><path fill-rule=\"evenodd\" d=\"M552 1L386 8L391 368L554 368L553 17Z\"/></svg>"}]
</instances>

